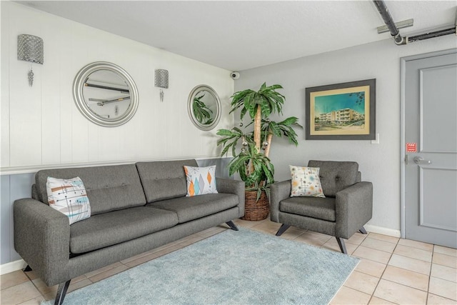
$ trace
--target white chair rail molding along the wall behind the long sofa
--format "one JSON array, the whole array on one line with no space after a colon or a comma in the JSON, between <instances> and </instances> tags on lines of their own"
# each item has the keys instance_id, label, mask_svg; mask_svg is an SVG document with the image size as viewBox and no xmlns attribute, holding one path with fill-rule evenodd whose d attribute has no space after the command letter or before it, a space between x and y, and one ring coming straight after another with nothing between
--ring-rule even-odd
<instances>
[{"instance_id":1,"label":"white chair rail molding along the wall behind the long sofa","mask_svg":"<svg viewBox=\"0 0 457 305\"><path fill-rule=\"evenodd\" d=\"M72 167L81 166L105 166L105 165L120 165L120 164L134 164L136 162L147 162L147 161L169 161L169 160L185 160L185 159L196 159L208 160L208 159L226 159L231 157L226 156L179 156L179 157L158 157L153 159L138 159L138 160L119 160L119 161L100 161L100 162L81 162L81 163L67 163L67 164L39 164L31 166L9 166L1 167L0 175L16 175L16 174L35 174L41 169L67 169Z\"/></svg>"}]
</instances>

